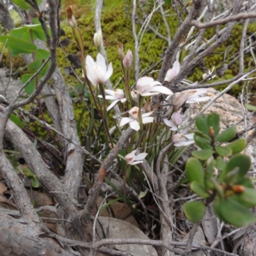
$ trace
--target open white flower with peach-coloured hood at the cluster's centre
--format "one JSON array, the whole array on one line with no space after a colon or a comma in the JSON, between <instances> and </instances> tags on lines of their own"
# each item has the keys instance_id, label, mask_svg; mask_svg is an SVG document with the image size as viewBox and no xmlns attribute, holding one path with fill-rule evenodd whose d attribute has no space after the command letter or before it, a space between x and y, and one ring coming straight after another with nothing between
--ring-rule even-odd
<instances>
[{"instance_id":1,"label":"open white flower with peach-coloured hood at the cluster's centre","mask_svg":"<svg viewBox=\"0 0 256 256\"><path fill-rule=\"evenodd\" d=\"M150 111L148 113L144 113L141 115L143 124L154 122L154 117L150 116L153 112L154 111ZM123 117L119 126L121 127L121 126L124 126L125 124L129 124L131 129L134 129L135 131L139 131L140 124L138 122L138 113L139 113L139 108L133 107L129 111L129 115L131 117Z\"/></svg>"}]
</instances>

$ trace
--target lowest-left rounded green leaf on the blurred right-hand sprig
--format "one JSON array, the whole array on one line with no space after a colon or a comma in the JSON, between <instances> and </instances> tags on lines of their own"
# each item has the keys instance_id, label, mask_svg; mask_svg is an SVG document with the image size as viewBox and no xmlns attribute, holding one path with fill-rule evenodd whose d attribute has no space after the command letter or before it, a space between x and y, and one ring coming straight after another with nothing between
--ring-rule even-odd
<instances>
[{"instance_id":1,"label":"lowest-left rounded green leaf on the blurred right-hand sprig","mask_svg":"<svg viewBox=\"0 0 256 256\"><path fill-rule=\"evenodd\" d=\"M202 202L186 202L183 211L188 220L196 223L204 217L205 205Z\"/></svg>"}]
</instances>

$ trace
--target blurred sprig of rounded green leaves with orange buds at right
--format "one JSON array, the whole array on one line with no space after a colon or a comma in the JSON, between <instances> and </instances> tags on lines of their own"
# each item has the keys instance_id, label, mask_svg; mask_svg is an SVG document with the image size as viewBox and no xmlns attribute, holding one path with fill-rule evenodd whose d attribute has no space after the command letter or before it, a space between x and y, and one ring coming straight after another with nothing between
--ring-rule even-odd
<instances>
[{"instance_id":1,"label":"blurred sprig of rounded green leaves with orange buds at right","mask_svg":"<svg viewBox=\"0 0 256 256\"><path fill-rule=\"evenodd\" d=\"M195 143L202 149L192 152L194 157L188 159L185 172L191 190L203 200L184 204L187 218L192 222L200 221L205 206L213 201L214 212L220 220L237 227L255 222L248 210L256 205L256 191L246 177L250 157L237 154L244 149L246 141L238 139L225 146L216 144L227 143L236 136L236 127L220 132L220 116L216 113L196 116L196 127L199 131L195 132ZM232 157L225 163L223 157L227 156ZM214 166L220 174L218 179Z\"/></svg>"}]
</instances>

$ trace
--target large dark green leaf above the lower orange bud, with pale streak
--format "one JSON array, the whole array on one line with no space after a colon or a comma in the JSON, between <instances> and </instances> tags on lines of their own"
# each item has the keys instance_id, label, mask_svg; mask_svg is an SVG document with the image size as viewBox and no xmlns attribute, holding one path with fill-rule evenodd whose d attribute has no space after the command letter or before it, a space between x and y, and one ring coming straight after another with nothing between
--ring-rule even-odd
<instances>
[{"instance_id":1,"label":"large dark green leaf above the lower orange bud, with pale streak","mask_svg":"<svg viewBox=\"0 0 256 256\"><path fill-rule=\"evenodd\" d=\"M236 184L250 170L251 159L249 156L237 154L228 161L220 175L219 182L225 180L228 184Z\"/></svg>"}]
</instances>

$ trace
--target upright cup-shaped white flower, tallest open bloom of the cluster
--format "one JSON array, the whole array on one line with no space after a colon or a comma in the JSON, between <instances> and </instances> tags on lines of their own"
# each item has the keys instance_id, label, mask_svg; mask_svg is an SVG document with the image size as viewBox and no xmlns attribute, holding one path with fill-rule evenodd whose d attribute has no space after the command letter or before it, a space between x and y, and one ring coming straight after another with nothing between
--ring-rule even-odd
<instances>
[{"instance_id":1,"label":"upright cup-shaped white flower, tallest open bloom of the cluster","mask_svg":"<svg viewBox=\"0 0 256 256\"><path fill-rule=\"evenodd\" d=\"M92 82L93 86L103 84L111 77L113 73L112 63L109 63L108 68L104 57L98 53L97 61L94 62L93 58L89 55L86 56L86 72L88 79Z\"/></svg>"}]
</instances>

